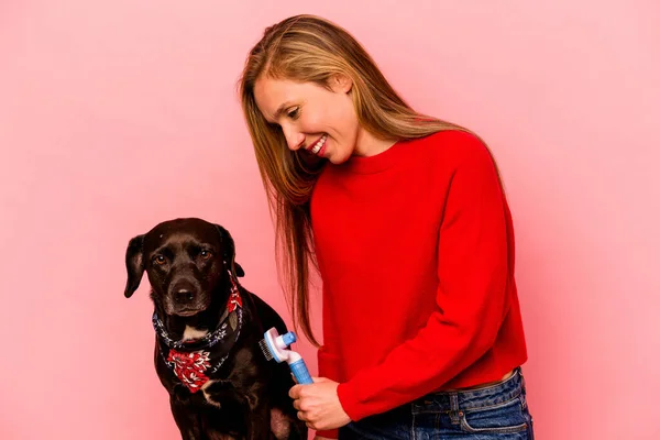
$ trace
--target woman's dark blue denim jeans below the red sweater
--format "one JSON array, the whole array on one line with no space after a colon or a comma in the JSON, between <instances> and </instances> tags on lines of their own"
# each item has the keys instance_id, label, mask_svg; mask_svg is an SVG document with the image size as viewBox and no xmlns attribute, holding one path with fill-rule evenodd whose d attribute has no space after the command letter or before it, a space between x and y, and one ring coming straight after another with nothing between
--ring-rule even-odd
<instances>
[{"instance_id":1,"label":"woman's dark blue denim jeans below the red sweater","mask_svg":"<svg viewBox=\"0 0 660 440\"><path fill-rule=\"evenodd\" d=\"M480 388L433 393L339 430L339 440L534 440L520 367Z\"/></svg>"}]
</instances>

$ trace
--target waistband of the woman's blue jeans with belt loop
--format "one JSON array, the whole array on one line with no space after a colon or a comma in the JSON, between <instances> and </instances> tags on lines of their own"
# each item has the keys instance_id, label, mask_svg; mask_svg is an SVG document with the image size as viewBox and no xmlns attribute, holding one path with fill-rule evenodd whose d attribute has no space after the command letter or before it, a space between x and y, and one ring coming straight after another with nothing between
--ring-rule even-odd
<instances>
[{"instance_id":1,"label":"waistband of the woman's blue jeans with belt loop","mask_svg":"<svg viewBox=\"0 0 660 440\"><path fill-rule=\"evenodd\" d=\"M522 371L518 366L510 377L493 385L466 391L428 394L413 402L413 411L416 414L449 413L497 406L519 396L525 398L524 388L525 380Z\"/></svg>"}]
</instances>

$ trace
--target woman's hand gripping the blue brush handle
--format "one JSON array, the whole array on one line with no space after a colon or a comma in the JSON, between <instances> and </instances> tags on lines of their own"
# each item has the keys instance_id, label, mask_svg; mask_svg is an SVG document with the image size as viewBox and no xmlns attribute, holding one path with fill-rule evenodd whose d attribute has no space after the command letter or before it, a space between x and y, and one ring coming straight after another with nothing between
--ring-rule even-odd
<instances>
[{"instance_id":1,"label":"woman's hand gripping the blue brush handle","mask_svg":"<svg viewBox=\"0 0 660 440\"><path fill-rule=\"evenodd\" d=\"M344 413L337 395L339 383L326 377L312 377L312 384L294 385L289 391L298 418L317 431L348 425L351 418Z\"/></svg>"}]
</instances>

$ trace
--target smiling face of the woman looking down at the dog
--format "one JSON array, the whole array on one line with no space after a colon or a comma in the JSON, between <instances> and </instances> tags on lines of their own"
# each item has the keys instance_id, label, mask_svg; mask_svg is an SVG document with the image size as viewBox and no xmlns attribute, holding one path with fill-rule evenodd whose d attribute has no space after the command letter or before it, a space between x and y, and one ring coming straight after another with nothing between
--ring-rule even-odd
<instances>
[{"instance_id":1,"label":"smiling face of the woman looking down at the dog","mask_svg":"<svg viewBox=\"0 0 660 440\"><path fill-rule=\"evenodd\" d=\"M351 80L334 76L329 86L262 76L254 85L254 98L264 118L282 128L292 151L305 148L341 164L360 154L359 144L367 135L358 122Z\"/></svg>"}]
</instances>

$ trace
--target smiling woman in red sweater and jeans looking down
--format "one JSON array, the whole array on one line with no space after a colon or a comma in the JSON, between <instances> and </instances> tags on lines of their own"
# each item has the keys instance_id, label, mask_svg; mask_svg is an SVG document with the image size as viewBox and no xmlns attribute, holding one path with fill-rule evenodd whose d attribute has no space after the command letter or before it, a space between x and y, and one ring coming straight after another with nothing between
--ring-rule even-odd
<instances>
[{"instance_id":1,"label":"smiling woman in red sweater and jeans looking down","mask_svg":"<svg viewBox=\"0 0 660 440\"><path fill-rule=\"evenodd\" d=\"M240 81L296 322L323 295L317 439L532 438L512 217L469 130L413 110L340 26L265 31ZM339 430L338 430L339 428Z\"/></svg>"}]
</instances>

